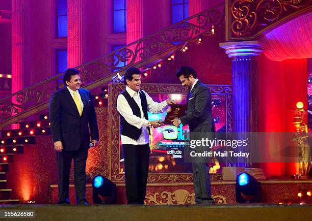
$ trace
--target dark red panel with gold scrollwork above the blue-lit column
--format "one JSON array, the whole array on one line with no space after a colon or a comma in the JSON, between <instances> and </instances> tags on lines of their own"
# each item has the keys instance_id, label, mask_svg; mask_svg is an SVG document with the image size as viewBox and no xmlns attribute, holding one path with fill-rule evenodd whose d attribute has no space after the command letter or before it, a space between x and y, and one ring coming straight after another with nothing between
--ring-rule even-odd
<instances>
[{"instance_id":1,"label":"dark red panel with gold scrollwork above the blue-lit column","mask_svg":"<svg viewBox=\"0 0 312 221\"><path fill-rule=\"evenodd\" d=\"M295 14L307 12L311 0L230 0L226 2L226 40L253 40Z\"/></svg>"}]
</instances>

